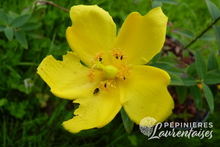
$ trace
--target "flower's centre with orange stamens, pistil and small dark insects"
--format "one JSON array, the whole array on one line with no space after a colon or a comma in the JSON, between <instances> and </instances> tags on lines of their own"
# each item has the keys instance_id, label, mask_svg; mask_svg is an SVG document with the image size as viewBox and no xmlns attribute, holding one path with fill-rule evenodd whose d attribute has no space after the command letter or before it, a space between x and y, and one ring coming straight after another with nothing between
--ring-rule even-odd
<instances>
[{"instance_id":1,"label":"flower's centre with orange stamens, pistil and small dark insects","mask_svg":"<svg viewBox=\"0 0 220 147\"><path fill-rule=\"evenodd\" d=\"M95 78L94 69L101 70L102 75L104 76L104 79L99 82L99 86L94 89L94 95L97 95L102 91L108 92L112 88L116 88L116 82L118 81L117 79L126 81L127 77L131 74L131 71L129 70L131 65L127 64L127 56L123 54L122 49L113 49L109 53L113 56L112 64L110 65L103 64L106 61L106 57L105 54L102 52L96 53L95 57L91 60L92 68L90 69L90 72L88 74L90 82L93 82Z\"/></svg>"}]
</instances>

